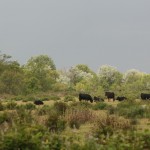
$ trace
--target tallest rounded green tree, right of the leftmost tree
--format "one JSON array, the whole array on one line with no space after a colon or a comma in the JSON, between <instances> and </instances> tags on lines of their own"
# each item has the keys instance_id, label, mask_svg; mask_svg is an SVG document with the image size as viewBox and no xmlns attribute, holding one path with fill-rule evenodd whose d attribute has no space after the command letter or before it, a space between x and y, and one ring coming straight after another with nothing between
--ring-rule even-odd
<instances>
[{"instance_id":1,"label":"tallest rounded green tree, right of the leftmost tree","mask_svg":"<svg viewBox=\"0 0 150 150\"><path fill-rule=\"evenodd\" d=\"M58 77L53 60L47 55L31 57L24 66L29 91L47 91Z\"/></svg>"}]
</instances>

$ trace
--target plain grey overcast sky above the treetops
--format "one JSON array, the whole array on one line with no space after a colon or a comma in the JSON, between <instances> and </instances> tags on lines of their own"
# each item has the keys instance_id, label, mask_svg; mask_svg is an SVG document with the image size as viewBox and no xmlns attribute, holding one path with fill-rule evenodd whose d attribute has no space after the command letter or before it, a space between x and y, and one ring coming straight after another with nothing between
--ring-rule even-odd
<instances>
[{"instance_id":1,"label":"plain grey overcast sky above the treetops","mask_svg":"<svg viewBox=\"0 0 150 150\"><path fill-rule=\"evenodd\" d=\"M150 0L0 0L0 51L150 73Z\"/></svg>"}]
</instances>

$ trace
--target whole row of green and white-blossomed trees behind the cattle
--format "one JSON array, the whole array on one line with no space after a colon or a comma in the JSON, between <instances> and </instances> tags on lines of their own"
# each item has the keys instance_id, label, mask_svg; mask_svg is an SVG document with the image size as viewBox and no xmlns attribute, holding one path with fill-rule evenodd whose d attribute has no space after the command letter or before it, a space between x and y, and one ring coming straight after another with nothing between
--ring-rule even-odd
<instances>
[{"instance_id":1,"label":"whole row of green and white-blossomed trees behind the cattle","mask_svg":"<svg viewBox=\"0 0 150 150\"><path fill-rule=\"evenodd\" d=\"M46 91L76 91L104 97L104 91L116 95L139 98L141 92L150 92L150 74L135 69L121 73L109 65L100 66L98 72L85 64L68 70L57 70L47 55L31 57L20 65L11 56L0 54L0 93L27 95Z\"/></svg>"}]
</instances>

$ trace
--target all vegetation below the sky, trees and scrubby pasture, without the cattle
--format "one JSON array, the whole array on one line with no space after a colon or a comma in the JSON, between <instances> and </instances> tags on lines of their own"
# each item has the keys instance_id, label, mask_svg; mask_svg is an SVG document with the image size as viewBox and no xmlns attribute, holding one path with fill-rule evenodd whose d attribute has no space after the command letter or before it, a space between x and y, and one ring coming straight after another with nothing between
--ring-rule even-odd
<instances>
[{"instance_id":1,"label":"all vegetation below the sky, trees and scrubby pasture, without the cattle","mask_svg":"<svg viewBox=\"0 0 150 150\"><path fill-rule=\"evenodd\" d=\"M57 70L47 55L25 65L0 55L0 150L150 149L150 74L79 64ZM105 91L126 100L110 101ZM79 101L78 94L104 102ZM34 100L44 105L34 105Z\"/></svg>"}]
</instances>

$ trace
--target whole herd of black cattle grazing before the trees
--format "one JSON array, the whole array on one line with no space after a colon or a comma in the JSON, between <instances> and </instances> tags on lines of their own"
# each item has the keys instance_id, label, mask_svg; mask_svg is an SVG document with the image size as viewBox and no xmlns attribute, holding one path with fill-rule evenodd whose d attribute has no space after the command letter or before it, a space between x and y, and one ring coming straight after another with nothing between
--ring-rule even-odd
<instances>
[{"instance_id":1,"label":"whole herd of black cattle grazing before the trees","mask_svg":"<svg viewBox=\"0 0 150 150\"><path fill-rule=\"evenodd\" d=\"M105 96L107 97L108 101L110 99L112 99L113 101L115 100L118 100L118 101L124 101L126 100L127 98L125 96L118 96L116 99L115 99L115 93L114 92L105 92ZM141 99L142 100L150 100L150 94L146 94L146 93L141 93ZM81 100L85 100L85 101L90 101L91 103L92 102L103 102L104 99L103 98L100 98L100 97L96 97L94 96L92 98L91 95L89 94L83 94L83 93L80 93L79 94L79 101ZM35 105L43 105L43 101L41 100L35 100L34 101L34 104Z\"/></svg>"}]
</instances>

